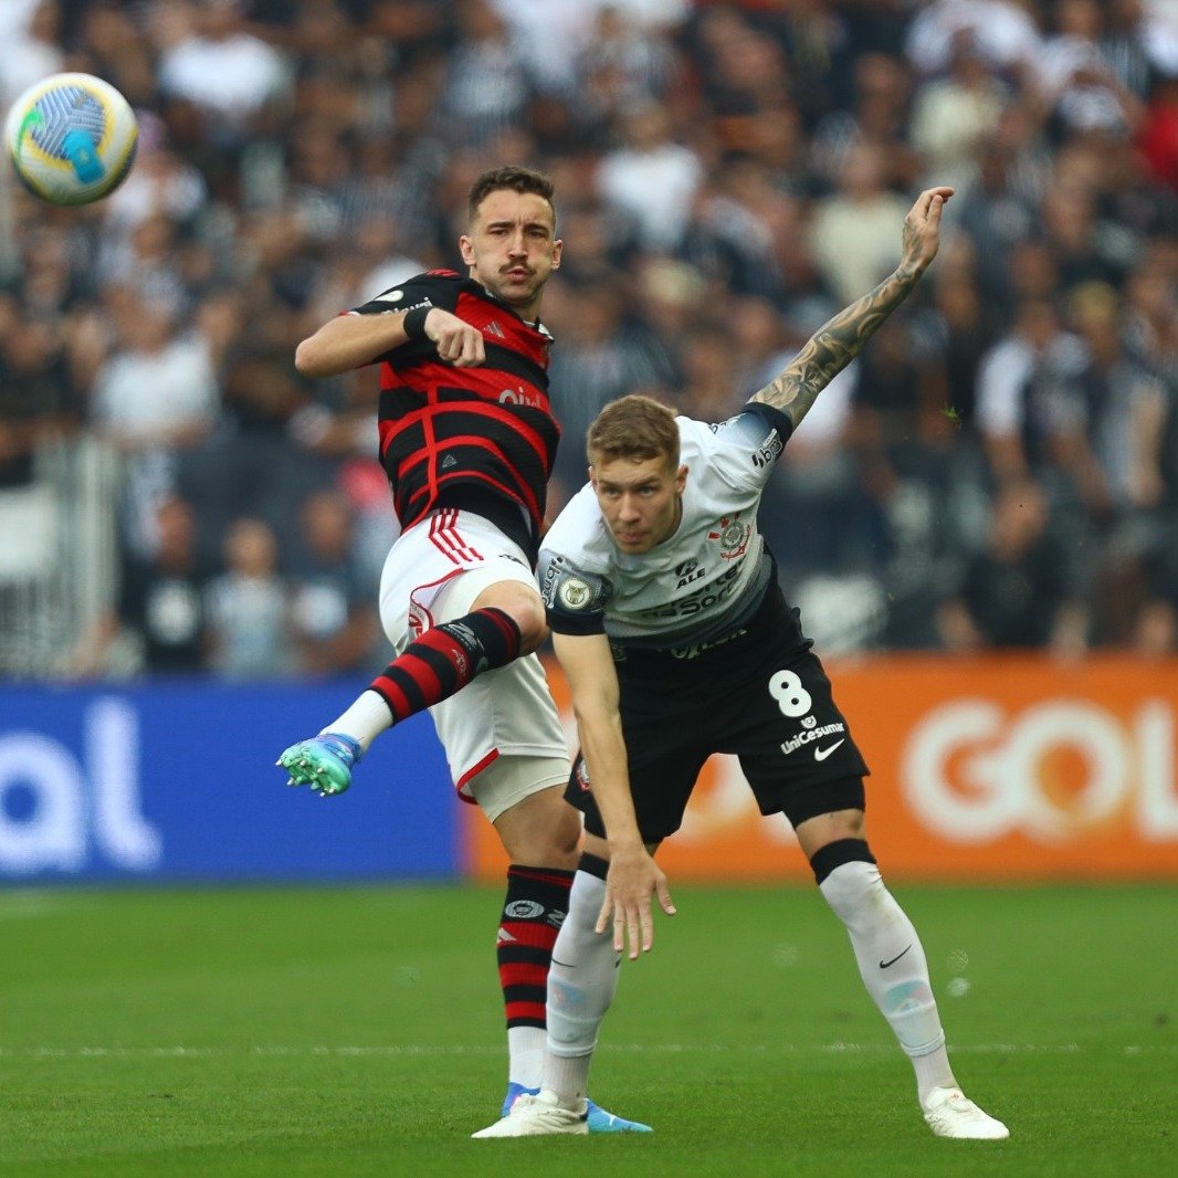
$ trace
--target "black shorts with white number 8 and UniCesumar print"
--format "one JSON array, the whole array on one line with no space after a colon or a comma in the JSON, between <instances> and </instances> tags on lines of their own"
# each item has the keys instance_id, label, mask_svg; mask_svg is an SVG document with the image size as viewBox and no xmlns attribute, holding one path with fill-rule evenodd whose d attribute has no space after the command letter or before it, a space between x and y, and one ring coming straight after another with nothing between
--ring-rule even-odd
<instances>
[{"instance_id":1,"label":"black shorts with white number 8 and UniCesumar print","mask_svg":"<svg viewBox=\"0 0 1178 1178\"><path fill-rule=\"evenodd\" d=\"M674 834L704 761L730 753L762 814L798 826L862 809L869 774L798 610L770 584L757 614L704 649L635 650L616 662L630 792L646 842ZM590 834L605 830L580 754L564 796Z\"/></svg>"}]
</instances>

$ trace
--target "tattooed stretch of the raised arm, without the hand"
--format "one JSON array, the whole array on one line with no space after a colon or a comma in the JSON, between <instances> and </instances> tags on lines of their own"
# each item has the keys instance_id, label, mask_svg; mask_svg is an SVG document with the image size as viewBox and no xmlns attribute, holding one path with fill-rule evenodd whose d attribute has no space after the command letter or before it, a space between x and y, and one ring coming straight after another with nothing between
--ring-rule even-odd
<instances>
[{"instance_id":1,"label":"tattooed stretch of the raised arm, without the hand","mask_svg":"<svg viewBox=\"0 0 1178 1178\"><path fill-rule=\"evenodd\" d=\"M901 265L875 290L843 307L810 336L775 380L755 392L749 401L761 401L780 409L798 429L818 395L908 297L920 274L921 270L915 266Z\"/></svg>"}]
</instances>

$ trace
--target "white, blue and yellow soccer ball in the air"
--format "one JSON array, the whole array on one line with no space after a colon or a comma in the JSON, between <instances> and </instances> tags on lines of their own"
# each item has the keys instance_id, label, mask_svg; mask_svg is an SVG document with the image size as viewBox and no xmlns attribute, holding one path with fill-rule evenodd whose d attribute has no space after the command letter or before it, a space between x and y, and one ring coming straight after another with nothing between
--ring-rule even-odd
<instances>
[{"instance_id":1,"label":"white, blue and yellow soccer ball in the air","mask_svg":"<svg viewBox=\"0 0 1178 1178\"><path fill-rule=\"evenodd\" d=\"M135 158L131 104L92 74L42 78L13 104L5 144L21 183L52 205L88 205L113 192Z\"/></svg>"}]
</instances>

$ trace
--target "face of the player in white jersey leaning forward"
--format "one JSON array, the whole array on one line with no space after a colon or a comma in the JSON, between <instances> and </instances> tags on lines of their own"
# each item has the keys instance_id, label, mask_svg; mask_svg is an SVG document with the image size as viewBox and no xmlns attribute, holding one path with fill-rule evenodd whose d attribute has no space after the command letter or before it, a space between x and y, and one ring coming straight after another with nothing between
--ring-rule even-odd
<instances>
[{"instance_id":1,"label":"face of the player in white jersey leaning forward","mask_svg":"<svg viewBox=\"0 0 1178 1178\"><path fill-rule=\"evenodd\" d=\"M674 535L687 466L666 458L615 458L589 468L602 517L623 552L641 554Z\"/></svg>"}]
</instances>

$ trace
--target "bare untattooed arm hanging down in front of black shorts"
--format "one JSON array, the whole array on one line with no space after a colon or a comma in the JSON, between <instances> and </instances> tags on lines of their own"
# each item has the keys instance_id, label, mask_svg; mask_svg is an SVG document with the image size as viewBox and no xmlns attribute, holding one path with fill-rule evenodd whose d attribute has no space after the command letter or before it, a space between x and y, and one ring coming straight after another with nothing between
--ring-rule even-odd
<instances>
[{"instance_id":1,"label":"bare untattooed arm hanging down in front of black shorts","mask_svg":"<svg viewBox=\"0 0 1178 1178\"><path fill-rule=\"evenodd\" d=\"M597 932L605 931L613 915L614 948L621 952L628 938L633 960L640 946L646 952L654 944L651 894L659 896L664 912L674 913L675 907L666 876L642 842L634 813L617 671L604 634L554 634L552 648L573 696L581 755L609 842L605 902Z\"/></svg>"}]
</instances>

